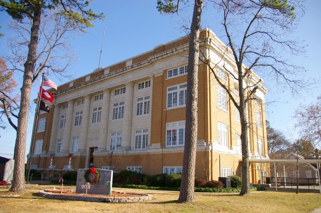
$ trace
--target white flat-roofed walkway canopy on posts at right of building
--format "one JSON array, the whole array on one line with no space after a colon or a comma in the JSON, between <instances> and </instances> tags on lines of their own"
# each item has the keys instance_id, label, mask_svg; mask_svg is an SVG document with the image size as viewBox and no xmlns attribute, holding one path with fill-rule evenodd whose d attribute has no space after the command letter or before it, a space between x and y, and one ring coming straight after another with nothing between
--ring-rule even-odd
<instances>
[{"instance_id":1,"label":"white flat-roofed walkway canopy on posts at right of building","mask_svg":"<svg viewBox=\"0 0 321 213\"><path fill-rule=\"evenodd\" d=\"M282 159L282 160L276 160L276 159L250 159L250 163L274 163L274 175L275 175L275 187L276 191L278 191L278 184L277 184L277 178L276 178L276 169L275 169L275 163L299 163L299 164L306 164L306 163L316 163L318 168L318 179L319 179L319 188L321 193L321 182L320 182L320 167L319 164L321 163L321 160L317 159L311 159L311 160L303 160L303 159L294 159L294 160L288 160L288 159Z\"/></svg>"}]
</instances>

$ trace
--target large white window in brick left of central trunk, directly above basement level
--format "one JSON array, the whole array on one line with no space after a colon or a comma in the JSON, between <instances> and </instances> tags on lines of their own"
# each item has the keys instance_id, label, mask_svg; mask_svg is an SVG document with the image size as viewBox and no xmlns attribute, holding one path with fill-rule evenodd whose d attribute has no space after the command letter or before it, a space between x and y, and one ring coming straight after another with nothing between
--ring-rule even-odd
<instances>
[{"instance_id":1,"label":"large white window in brick left of central trunk, directly above basement level","mask_svg":"<svg viewBox=\"0 0 321 213\"><path fill-rule=\"evenodd\" d=\"M182 146L185 142L185 121L166 124L166 146Z\"/></svg>"}]
</instances>

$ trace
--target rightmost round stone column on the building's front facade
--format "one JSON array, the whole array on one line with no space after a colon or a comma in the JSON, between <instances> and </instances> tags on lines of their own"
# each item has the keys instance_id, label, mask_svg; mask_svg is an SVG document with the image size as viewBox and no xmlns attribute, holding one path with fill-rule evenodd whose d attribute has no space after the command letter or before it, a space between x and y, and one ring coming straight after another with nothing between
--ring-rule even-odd
<instances>
[{"instance_id":1,"label":"rightmost round stone column on the building's front facade","mask_svg":"<svg viewBox=\"0 0 321 213\"><path fill-rule=\"evenodd\" d=\"M124 120L123 120L123 132L122 132L122 150L130 149L131 141L131 122L133 116L133 92L134 84L126 84L125 92L125 106L124 106Z\"/></svg>"}]
</instances>

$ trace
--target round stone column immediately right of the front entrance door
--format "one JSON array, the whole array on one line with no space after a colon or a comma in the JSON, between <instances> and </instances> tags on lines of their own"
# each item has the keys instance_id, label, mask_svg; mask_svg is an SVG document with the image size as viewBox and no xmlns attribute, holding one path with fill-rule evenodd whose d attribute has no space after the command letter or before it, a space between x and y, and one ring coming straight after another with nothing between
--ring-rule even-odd
<instances>
[{"instance_id":1,"label":"round stone column immediately right of the front entrance door","mask_svg":"<svg viewBox=\"0 0 321 213\"><path fill-rule=\"evenodd\" d=\"M109 121L109 106L110 106L110 89L104 90L104 101L101 114L101 125L99 127L98 151L109 150L107 142L108 121Z\"/></svg>"}]
</instances>

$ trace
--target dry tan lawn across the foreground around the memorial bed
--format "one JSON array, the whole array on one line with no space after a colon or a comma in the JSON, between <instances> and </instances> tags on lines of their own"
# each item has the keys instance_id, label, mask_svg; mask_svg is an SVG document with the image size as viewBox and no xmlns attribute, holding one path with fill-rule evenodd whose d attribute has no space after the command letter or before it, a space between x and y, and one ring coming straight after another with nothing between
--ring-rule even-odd
<instances>
[{"instance_id":1,"label":"dry tan lawn across the foreground around the memorial bed","mask_svg":"<svg viewBox=\"0 0 321 213\"><path fill-rule=\"evenodd\" d=\"M214 194L196 193L195 203L177 203L179 192L120 189L118 192L147 193L153 199L141 203L93 203L84 201L56 200L40 197L40 189L52 189L53 186L40 185L26 189L23 195L16 197L0 197L0 213L88 213L88 212L153 212L153 213L309 213L321 206L321 194L291 192L252 192L249 196L239 196L237 193ZM58 186L56 186L58 188ZM75 187L64 187L75 189ZM10 195L8 189L0 189L0 195Z\"/></svg>"}]
</instances>

